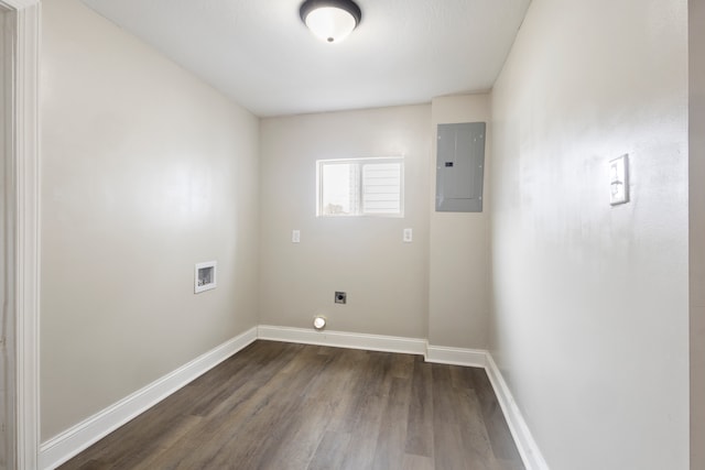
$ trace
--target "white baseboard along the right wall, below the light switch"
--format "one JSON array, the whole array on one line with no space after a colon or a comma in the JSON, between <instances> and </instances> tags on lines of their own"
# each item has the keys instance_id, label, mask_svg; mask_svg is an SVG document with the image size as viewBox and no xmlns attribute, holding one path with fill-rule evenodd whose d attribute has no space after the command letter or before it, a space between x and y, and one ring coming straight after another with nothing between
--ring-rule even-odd
<instances>
[{"instance_id":1,"label":"white baseboard along the right wall, below the light switch","mask_svg":"<svg viewBox=\"0 0 705 470\"><path fill-rule=\"evenodd\" d=\"M549 470L549 464L544 460L543 455L541 455L541 450L539 449L539 446L536 446L536 441L533 440L529 426L527 426L527 422L524 420L519 406L517 406L517 402L514 401L509 386L507 386L505 378L489 352L487 353L487 364L485 365L485 370L487 371L489 381L492 384L492 389L495 389L495 395L497 395L497 401L505 413L509 430L511 430L511 435L514 438L517 449L521 455L521 460L523 460L524 467L527 467L527 470Z\"/></svg>"}]
</instances>

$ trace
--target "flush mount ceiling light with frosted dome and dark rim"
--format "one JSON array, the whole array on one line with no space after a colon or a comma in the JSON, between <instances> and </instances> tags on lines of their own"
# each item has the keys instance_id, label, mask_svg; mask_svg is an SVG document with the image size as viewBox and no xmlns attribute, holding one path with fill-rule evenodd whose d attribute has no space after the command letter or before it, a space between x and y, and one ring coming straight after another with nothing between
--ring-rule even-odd
<instances>
[{"instance_id":1,"label":"flush mount ceiling light with frosted dome and dark rim","mask_svg":"<svg viewBox=\"0 0 705 470\"><path fill-rule=\"evenodd\" d=\"M362 19L360 8L352 0L306 0L299 13L304 24L328 43L346 39Z\"/></svg>"}]
</instances>

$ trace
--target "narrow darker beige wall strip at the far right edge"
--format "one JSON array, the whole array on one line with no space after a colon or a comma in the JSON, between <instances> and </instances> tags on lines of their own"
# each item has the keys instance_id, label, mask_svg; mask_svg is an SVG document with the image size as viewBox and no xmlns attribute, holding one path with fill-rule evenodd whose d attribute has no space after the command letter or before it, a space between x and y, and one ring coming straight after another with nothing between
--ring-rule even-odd
<instances>
[{"instance_id":1,"label":"narrow darker beige wall strip at the far right edge","mask_svg":"<svg viewBox=\"0 0 705 470\"><path fill-rule=\"evenodd\" d=\"M691 469L705 468L705 3L688 2Z\"/></svg>"}]
</instances>

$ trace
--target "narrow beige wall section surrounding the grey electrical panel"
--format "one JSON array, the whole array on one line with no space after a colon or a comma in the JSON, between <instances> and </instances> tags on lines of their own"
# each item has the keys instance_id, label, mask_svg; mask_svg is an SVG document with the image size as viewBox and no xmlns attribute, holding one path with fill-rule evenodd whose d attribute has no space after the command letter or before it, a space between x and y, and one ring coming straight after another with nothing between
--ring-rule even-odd
<instances>
[{"instance_id":1,"label":"narrow beige wall section surrounding the grey electrical panel","mask_svg":"<svg viewBox=\"0 0 705 470\"><path fill-rule=\"evenodd\" d=\"M432 134L437 125L455 122L487 122L488 95L434 98ZM429 343L433 346L487 349L489 318L489 164L491 142L485 139L485 186L482 212L436 212L436 144L429 172Z\"/></svg>"}]
</instances>

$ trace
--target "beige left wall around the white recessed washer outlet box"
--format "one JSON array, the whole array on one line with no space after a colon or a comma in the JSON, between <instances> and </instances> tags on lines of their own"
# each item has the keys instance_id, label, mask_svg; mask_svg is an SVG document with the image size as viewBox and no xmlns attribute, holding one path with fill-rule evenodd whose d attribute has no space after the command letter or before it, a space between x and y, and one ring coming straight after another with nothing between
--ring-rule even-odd
<instances>
[{"instance_id":1,"label":"beige left wall around the white recessed washer outlet box","mask_svg":"<svg viewBox=\"0 0 705 470\"><path fill-rule=\"evenodd\" d=\"M77 0L42 3L47 439L257 325L258 120Z\"/></svg>"}]
</instances>

